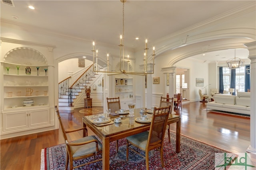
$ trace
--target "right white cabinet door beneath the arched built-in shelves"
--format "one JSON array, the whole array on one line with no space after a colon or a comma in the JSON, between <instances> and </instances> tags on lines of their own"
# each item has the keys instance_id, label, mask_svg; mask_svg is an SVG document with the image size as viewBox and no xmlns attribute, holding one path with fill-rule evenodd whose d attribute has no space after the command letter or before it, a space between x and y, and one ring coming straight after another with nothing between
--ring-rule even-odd
<instances>
[{"instance_id":1,"label":"right white cabinet door beneath the arched built-in shelves","mask_svg":"<svg viewBox=\"0 0 256 170\"><path fill-rule=\"evenodd\" d=\"M50 124L50 109L29 111L29 127Z\"/></svg>"}]
</instances>

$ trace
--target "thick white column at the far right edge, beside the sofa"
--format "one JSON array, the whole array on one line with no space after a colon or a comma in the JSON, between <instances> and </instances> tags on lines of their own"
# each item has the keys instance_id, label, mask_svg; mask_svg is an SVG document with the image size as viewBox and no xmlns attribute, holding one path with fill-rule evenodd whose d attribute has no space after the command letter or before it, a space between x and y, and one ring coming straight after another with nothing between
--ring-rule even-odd
<instances>
[{"instance_id":1,"label":"thick white column at the far right edge, beside the sofa","mask_svg":"<svg viewBox=\"0 0 256 170\"><path fill-rule=\"evenodd\" d=\"M256 41L244 44L249 50L248 58L251 60L250 70L250 93L251 93L251 113L250 113L250 146L247 152L256 153Z\"/></svg>"}]
</instances>

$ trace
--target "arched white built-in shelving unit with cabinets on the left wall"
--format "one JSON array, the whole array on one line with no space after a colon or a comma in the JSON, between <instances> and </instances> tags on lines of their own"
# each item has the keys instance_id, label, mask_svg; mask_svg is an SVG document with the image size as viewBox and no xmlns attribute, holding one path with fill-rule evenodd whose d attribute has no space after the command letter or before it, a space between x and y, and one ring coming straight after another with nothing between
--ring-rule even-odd
<instances>
[{"instance_id":1,"label":"arched white built-in shelving unit with cabinets on the left wall","mask_svg":"<svg viewBox=\"0 0 256 170\"><path fill-rule=\"evenodd\" d=\"M47 49L47 48L46 48ZM54 125L50 102L52 66L30 47L10 49L1 59L1 137L35 133ZM50 72L50 75L49 75ZM34 104L25 106L24 100Z\"/></svg>"}]
</instances>

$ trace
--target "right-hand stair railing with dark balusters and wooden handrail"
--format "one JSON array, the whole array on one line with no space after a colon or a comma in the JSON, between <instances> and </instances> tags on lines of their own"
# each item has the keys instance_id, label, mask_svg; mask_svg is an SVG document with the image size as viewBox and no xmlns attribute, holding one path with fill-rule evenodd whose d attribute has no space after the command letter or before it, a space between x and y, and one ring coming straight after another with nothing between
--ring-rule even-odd
<instances>
[{"instance_id":1,"label":"right-hand stair railing with dark balusters and wooden handrail","mask_svg":"<svg viewBox=\"0 0 256 170\"><path fill-rule=\"evenodd\" d=\"M102 69L100 65L97 66L98 69ZM68 104L72 106L74 94L78 94L81 88L86 86L86 83L89 83L92 78L95 77L95 72L93 72L93 64L90 65L84 73L74 83L68 88Z\"/></svg>"}]
</instances>

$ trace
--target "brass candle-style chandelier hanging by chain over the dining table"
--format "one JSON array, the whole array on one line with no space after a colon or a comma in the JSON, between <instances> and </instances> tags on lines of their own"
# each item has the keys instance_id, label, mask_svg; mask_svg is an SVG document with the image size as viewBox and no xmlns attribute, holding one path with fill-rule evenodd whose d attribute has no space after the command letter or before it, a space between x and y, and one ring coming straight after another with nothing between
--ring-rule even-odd
<instances>
[{"instance_id":1,"label":"brass candle-style chandelier hanging by chain over the dining table","mask_svg":"<svg viewBox=\"0 0 256 170\"><path fill-rule=\"evenodd\" d=\"M134 74L134 75L146 75L146 74L154 74L154 57L155 57L155 47L153 47L153 70L147 70L148 69L148 40L146 39L145 43L146 43L146 47L144 48L145 53L144 53L144 69L143 71L129 71L129 55L127 56L127 60L125 61L124 59L124 2L126 2L126 0L120 0L123 3L123 32L122 35L120 35L120 44L118 45L120 47L120 55L119 55L119 70L110 70L109 69L109 60L108 57L109 55L107 54L107 66L108 66L108 70L107 71L103 71L102 69L99 69L98 67L98 50L95 51L94 46L95 43L93 41L92 45L93 45L93 71L98 73L98 74L108 74L108 75L116 75L116 74ZM96 53L96 56L95 56ZM127 64L125 64L127 63ZM127 65L127 67L126 67ZM127 70L126 70L127 68Z\"/></svg>"}]
</instances>

